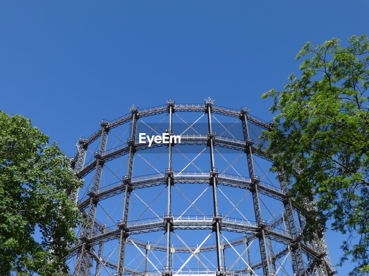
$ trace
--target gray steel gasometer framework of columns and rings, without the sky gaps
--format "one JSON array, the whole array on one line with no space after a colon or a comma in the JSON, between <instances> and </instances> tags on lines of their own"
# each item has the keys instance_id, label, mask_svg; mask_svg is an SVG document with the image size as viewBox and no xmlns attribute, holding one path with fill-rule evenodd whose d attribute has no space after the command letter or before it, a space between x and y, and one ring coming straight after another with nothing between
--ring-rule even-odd
<instances>
[{"instance_id":1,"label":"gray steel gasometer framework of columns and rings, without the sky gaps","mask_svg":"<svg viewBox=\"0 0 369 276\"><path fill-rule=\"evenodd\" d=\"M75 259L74 266L70 268L70 275L92 275L93 267L94 275L334 275L335 270L332 268L324 234L315 233L315 239L311 242L303 240L305 217L309 214L313 205L307 203L305 209L298 209L293 199L289 197L288 187L283 181L279 183L279 187L275 187L261 181L261 178L255 175L255 156L270 162L273 160L265 154L263 149L258 148L254 140L250 137L249 124L256 125L264 130L269 130L270 124L249 115L248 109L245 107L235 110L215 106L213 102L214 100L209 98L205 100L204 104L176 104L173 99L170 99L166 105L148 109L139 110L137 106L132 106L129 114L112 121L101 121L99 130L88 138L79 139L77 142L77 153L72 160L72 166L75 169L76 175L80 178L91 174L93 171L94 176L92 188L88 190L86 196L78 198L78 190L69 192L70 199L76 203L86 220L85 227L80 231L78 242L70 245L69 254L66 256L66 260ZM180 137L182 145L206 145L209 148L210 171L173 170L172 151L175 144L172 139L174 135L172 117L173 114L178 112L200 112L204 113L204 115L206 114L208 124L207 133L181 134ZM169 144L153 144L151 147L148 143L139 144L137 141L138 120L143 117L163 113L168 113L169 115L169 125L166 130L171 137ZM241 120L243 139L217 135L213 131L213 114L235 117ZM124 124L131 124L129 139L127 139L127 142L122 143L121 146L107 150L109 132ZM89 145L97 139L100 139L98 151L94 153L94 159L86 163L85 159ZM162 169L158 173L138 177L133 176L132 171L135 154L162 146L168 147L168 167L165 166L165 169ZM248 169L248 176L220 173L216 169L214 160L214 150L216 148L226 148L245 153L247 160L245 166ZM117 183L100 187L104 165L111 160L121 158L125 155L128 156L127 174ZM279 174L282 176L283 172L281 171ZM188 183L209 185L208 187L211 189L213 201L213 215L173 215L172 190L176 188L176 184ZM166 213L162 217L157 216L154 219L129 221L131 193L137 189L160 185L165 186L167 190ZM222 192L220 186L240 189L245 194L250 192L255 221L223 216L218 208L217 192ZM111 197L121 197L120 195L122 194L122 219L115 226L107 227L96 218L96 209L99 201ZM260 195L280 201L284 206L284 211L279 216L274 217L272 223L268 223L262 219ZM190 201L190 203L194 206L194 202ZM150 208L150 205L146 203L145 205ZM237 209L237 205L233 203L232 205L234 206L233 209ZM194 229L211 230L212 234L209 234L207 238L214 235L215 243L204 244L207 240L206 238L200 245L187 245L175 231ZM240 237L228 240L223 234L227 231L239 233ZM161 232L163 236L166 236L166 244L159 244L160 239L156 243L153 243L152 241L142 241L134 238L135 234L151 232ZM183 245L172 244L171 237L173 235L182 241ZM257 248L260 253L260 259L252 262L249 248L255 246L253 243L256 240L258 242ZM104 244L110 241L116 241L117 243L117 261L103 256ZM283 247L275 250L273 243L280 243ZM125 264L127 244L137 248L144 256L144 259L141 261L145 264L144 271L137 269L139 265L136 268L130 268ZM244 245L245 250L241 252L235 248L239 245ZM233 265L227 267L225 265L227 261L225 251L227 250L234 250L237 254L235 257L237 261L242 259L245 266L234 268L235 263L237 263L236 261ZM154 251L165 252L165 262L160 269L148 271L149 263L156 267L149 259L149 255ZM215 269L209 269L204 264L204 259L200 258L201 252L215 252ZM194 257L197 259L197 270L187 271L183 269L190 258L186 262L183 261L179 269L174 269L173 256L176 253L187 253L190 254L190 258ZM243 257L244 255L245 257ZM291 263L290 272L287 272L283 266L283 263L288 257ZM200 263L206 268L205 270L199 269ZM262 271L262 273L256 274L255 270L257 269Z\"/></svg>"}]
</instances>

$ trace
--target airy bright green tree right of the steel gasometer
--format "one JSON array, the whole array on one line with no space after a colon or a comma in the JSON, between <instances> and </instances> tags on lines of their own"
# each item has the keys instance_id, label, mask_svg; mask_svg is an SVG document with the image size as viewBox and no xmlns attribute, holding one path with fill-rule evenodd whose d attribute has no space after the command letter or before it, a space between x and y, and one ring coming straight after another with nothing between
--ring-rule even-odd
<instances>
[{"instance_id":1,"label":"airy bright green tree right of the steel gasometer","mask_svg":"<svg viewBox=\"0 0 369 276\"><path fill-rule=\"evenodd\" d=\"M351 275L369 273L369 40L352 36L310 42L297 54L306 59L301 76L289 76L283 91L270 90L275 124L262 139L275 159L272 170L284 180L300 206L315 199L307 232L325 229L346 234L340 265L351 258Z\"/></svg>"}]
</instances>

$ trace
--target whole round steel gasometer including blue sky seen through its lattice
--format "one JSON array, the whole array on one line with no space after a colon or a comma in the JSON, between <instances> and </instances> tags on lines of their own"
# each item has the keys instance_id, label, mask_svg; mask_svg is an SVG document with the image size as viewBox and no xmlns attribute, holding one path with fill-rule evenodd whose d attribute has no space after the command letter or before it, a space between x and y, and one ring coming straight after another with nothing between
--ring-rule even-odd
<instances>
[{"instance_id":1,"label":"whole round steel gasometer including blue sky seen through its lattice","mask_svg":"<svg viewBox=\"0 0 369 276\"><path fill-rule=\"evenodd\" d=\"M99 130L79 139L72 166L85 186L70 192L70 199L86 223L76 229L79 240L66 256L70 275L334 275L324 234L315 233L311 243L302 240L312 205L297 209L288 187L262 170L268 171L265 163L272 159L258 148L252 137L259 133L253 128L269 130L270 124L245 107L229 109L213 102L176 104L170 99L141 110L133 105L129 114L103 120ZM200 118L190 124L179 114ZM158 124L143 120L157 116L163 117ZM234 123L226 128L218 116ZM201 118L206 129L198 132ZM176 129L175 119L186 130ZM156 133L165 127L160 131L171 139L168 144L139 143L139 125ZM126 127L126 132L120 130ZM235 127L240 137L231 134ZM223 132L219 135L215 128ZM173 135L180 136L180 144ZM108 144L108 136L115 145ZM188 150L196 147L204 149ZM224 157L228 152L241 156L231 163ZM189 166L196 170L189 171ZM237 174L226 173L229 169ZM205 204L200 206L201 201ZM189 207L182 212L186 202Z\"/></svg>"}]
</instances>

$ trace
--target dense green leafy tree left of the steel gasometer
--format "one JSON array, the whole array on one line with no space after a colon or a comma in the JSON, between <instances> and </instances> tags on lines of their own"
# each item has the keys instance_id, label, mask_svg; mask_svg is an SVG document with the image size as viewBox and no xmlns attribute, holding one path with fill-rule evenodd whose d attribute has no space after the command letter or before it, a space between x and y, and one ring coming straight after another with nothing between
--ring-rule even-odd
<instances>
[{"instance_id":1,"label":"dense green leafy tree left of the steel gasometer","mask_svg":"<svg viewBox=\"0 0 369 276\"><path fill-rule=\"evenodd\" d=\"M81 181L48 139L28 118L0 111L0 275L66 272L80 215L65 191Z\"/></svg>"}]
</instances>

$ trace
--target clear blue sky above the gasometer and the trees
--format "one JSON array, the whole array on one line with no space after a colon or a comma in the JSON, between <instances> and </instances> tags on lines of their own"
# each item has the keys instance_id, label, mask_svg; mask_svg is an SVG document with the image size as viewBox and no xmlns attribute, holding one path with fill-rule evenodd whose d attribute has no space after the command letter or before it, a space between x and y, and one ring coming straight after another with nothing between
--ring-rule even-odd
<instances>
[{"instance_id":1,"label":"clear blue sky above the gasometer and the trees","mask_svg":"<svg viewBox=\"0 0 369 276\"><path fill-rule=\"evenodd\" d=\"M304 43L369 33L368 14L368 1L1 1L0 109L67 155L133 103L210 96L269 121L261 94L298 73ZM339 239L327 235L334 263Z\"/></svg>"}]
</instances>

